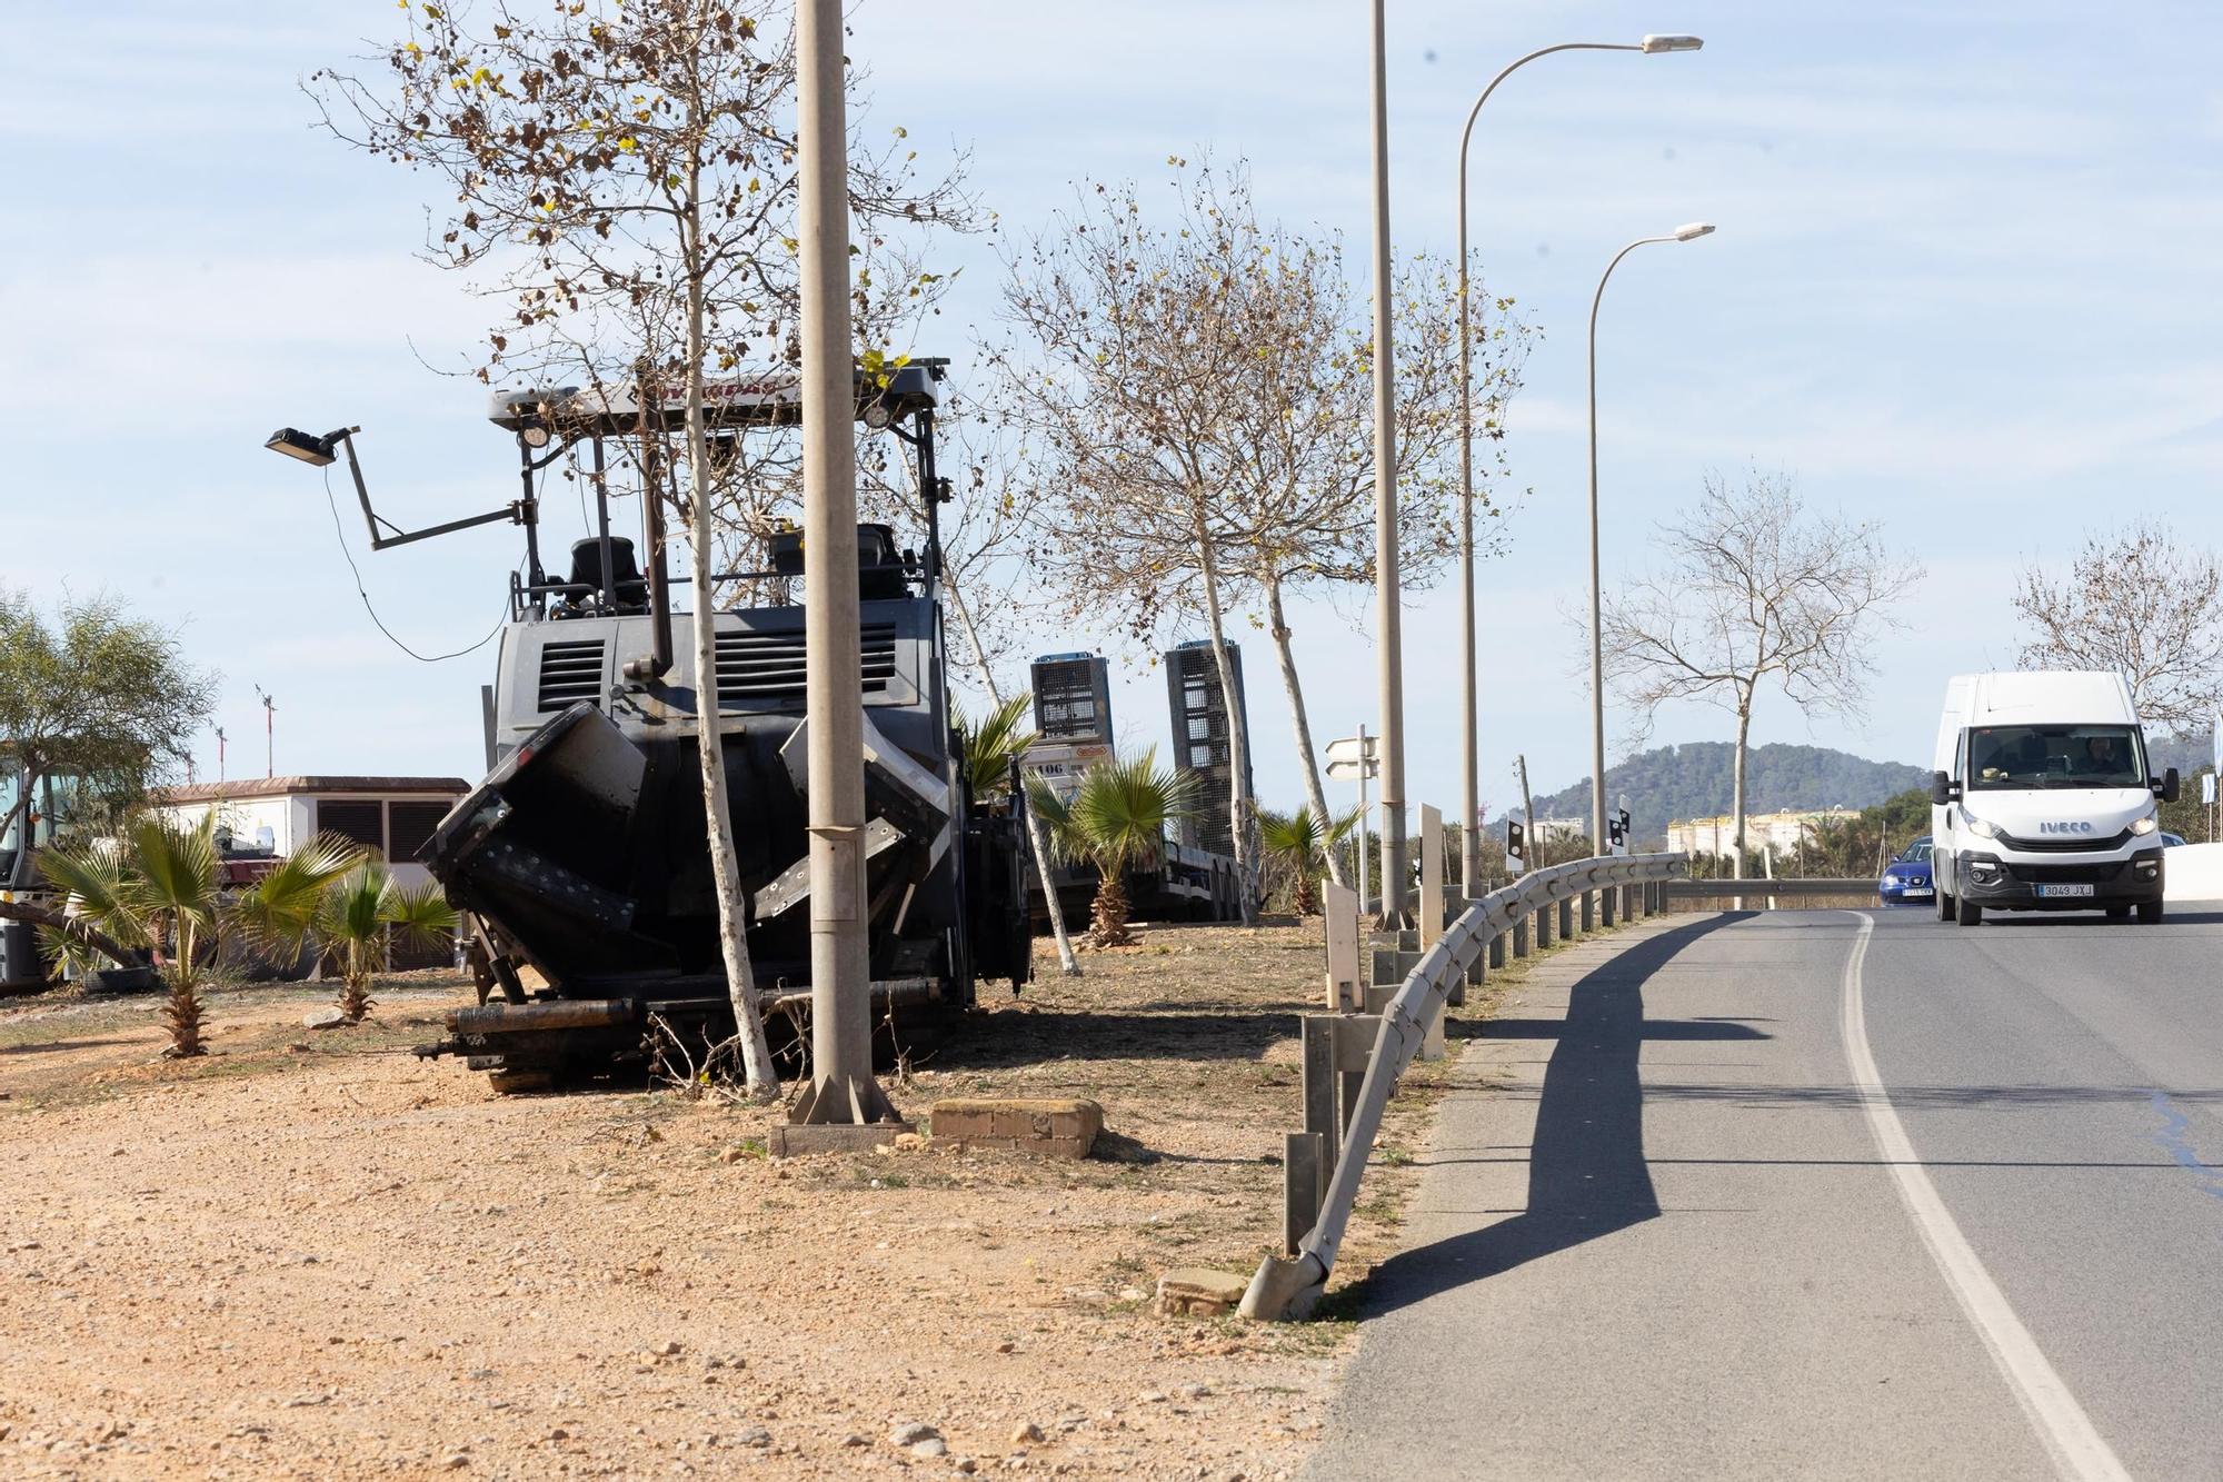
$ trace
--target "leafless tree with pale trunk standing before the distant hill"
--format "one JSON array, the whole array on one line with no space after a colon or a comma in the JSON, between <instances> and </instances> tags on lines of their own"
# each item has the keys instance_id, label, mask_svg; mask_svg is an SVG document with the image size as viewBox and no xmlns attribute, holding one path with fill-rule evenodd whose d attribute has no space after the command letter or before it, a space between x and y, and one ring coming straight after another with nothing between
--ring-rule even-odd
<instances>
[{"instance_id":1,"label":"leafless tree with pale trunk standing before the distant hill","mask_svg":"<svg viewBox=\"0 0 2223 1482\"><path fill-rule=\"evenodd\" d=\"M1807 514L1785 474L1718 474L1656 541L1663 572L1609 592L1605 668L1643 719L1678 699L1736 717L1734 868L1745 872L1745 752L1752 705L1774 679L1807 714L1858 714L1870 648L1896 628L1892 603L1921 565L1885 547L1872 521Z\"/></svg>"}]
</instances>

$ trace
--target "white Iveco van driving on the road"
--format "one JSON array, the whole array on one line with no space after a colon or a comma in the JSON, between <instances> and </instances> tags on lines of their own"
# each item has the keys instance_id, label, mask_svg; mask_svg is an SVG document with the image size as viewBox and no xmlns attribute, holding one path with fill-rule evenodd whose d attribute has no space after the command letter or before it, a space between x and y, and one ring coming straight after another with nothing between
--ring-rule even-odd
<instances>
[{"instance_id":1,"label":"white Iveco van driving on the road","mask_svg":"<svg viewBox=\"0 0 2223 1482\"><path fill-rule=\"evenodd\" d=\"M2105 910L2161 921L2154 777L2121 674L1958 674L1930 777L1941 921L1985 910Z\"/></svg>"}]
</instances>

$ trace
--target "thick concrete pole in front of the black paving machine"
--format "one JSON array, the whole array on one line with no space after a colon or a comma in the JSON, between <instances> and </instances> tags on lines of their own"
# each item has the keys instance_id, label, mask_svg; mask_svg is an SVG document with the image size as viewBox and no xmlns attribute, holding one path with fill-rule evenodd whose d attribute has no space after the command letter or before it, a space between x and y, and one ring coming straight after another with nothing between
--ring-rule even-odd
<instances>
[{"instance_id":1,"label":"thick concrete pole in front of the black paving machine","mask_svg":"<svg viewBox=\"0 0 2223 1482\"><path fill-rule=\"evenodd\" d=\"M809 750L811 1086L796 1122L880 1122L865 921L865 694L858 688L856 369L849 352L849 120L840 0L796 0L803 256L803 668ZM707 619L705 619L707 621Z\"/></svg>"}]
</instances>

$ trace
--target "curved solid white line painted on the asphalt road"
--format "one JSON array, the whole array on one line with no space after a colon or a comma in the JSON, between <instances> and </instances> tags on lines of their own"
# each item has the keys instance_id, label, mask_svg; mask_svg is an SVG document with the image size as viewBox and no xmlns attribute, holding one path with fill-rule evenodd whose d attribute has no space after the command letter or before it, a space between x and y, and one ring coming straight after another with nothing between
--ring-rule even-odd
<instances>
[{"instance_id":1,"label":"curved solid white line painted on the asphalt road","mask_svg":"<svg viewBox=\"0 0 2223 1482\"><path fill-rule=\"evenodd\" d=\"M1905 1202L1907 1213L1914 1215L1914 1224L1923 1233L1923 1244L1930 1246L1930 1259L1936 1262L1945 1284L1952 1286L1952 1295L1958 1297L1961 1311L1967 1313L1976 1333L1983 1335L1985 1346L1992 1351L1992 1362L1998 1364L1998 1373L2007 1380L2023 1413L2030 1415L2030 1424L2036 1426L2038 1440L2052 1453L2054 1469L2063 1478L2076 1478L2076 1482L2127 1482L2130 1473L2123 1471L2123 1462L2092 1426L2092 1417L2076 1404L2076 1395L2070 1393L2070 1386L2038 1348L2030 1328L2014 1315L2007 1293L1998 1291L1998 1282L1976 1259L1976 1251L1967 1244L1952 1211L1945 1208L1945 1199L1938 1197L1930 1173L1914 1157L1914 1144L1907 1139L1907 1128L1898 1122L1898 1110L1892 1108L1892 1097L1883 1088L1883 1075L1876 1070L1876 1057L1867 1048L1861 964L1867 959L1867 939L1876 930L1876 919L1865 910L1852 915L1861 917L1861 937L1852 943L1852 957L1845 959L1845 1059L1852 1064L1852 1081L1861 1093L1867 1130L1876 1135L1876 1150L1883 1155L1883 1166L1892 1170L1898 1197Z\"/></svg>"}]
</instances>

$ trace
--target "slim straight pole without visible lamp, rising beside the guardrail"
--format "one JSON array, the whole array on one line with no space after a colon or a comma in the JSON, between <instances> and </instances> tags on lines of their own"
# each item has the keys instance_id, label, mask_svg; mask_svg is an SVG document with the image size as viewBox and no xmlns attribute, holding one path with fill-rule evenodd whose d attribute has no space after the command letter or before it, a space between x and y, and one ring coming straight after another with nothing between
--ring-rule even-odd
<instances>
[{"instance_id":1,"label":"slim straight pole without visible lamp, rising beside the guardrail","mask_svg":"<svg viewBox=\"0 0 2223 1482\"><path fill-rule=\"evenodd\" d=\"M1383 710L1383 917L1405 919L1405 641L1396 536L1396 367L1389 340L1389 65L1374 0L1374 643Z\"/></svg>"}]
</instances>

